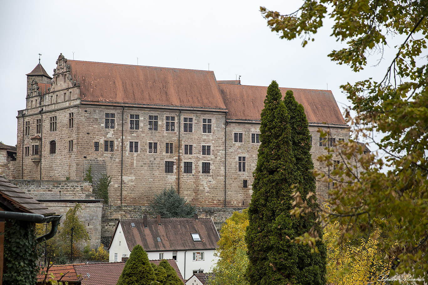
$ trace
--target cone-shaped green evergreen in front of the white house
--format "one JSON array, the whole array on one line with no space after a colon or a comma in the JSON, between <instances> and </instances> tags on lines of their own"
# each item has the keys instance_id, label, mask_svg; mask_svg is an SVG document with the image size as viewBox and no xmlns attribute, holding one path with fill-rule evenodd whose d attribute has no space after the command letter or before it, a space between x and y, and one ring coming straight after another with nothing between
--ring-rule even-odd
<instances>
[{"instance_id":1,"label":"cone-shaped green evergreen in front of the white house","mask_svg":"<svg viewBox=\"0 0 428 285\"><path fill-rule=\"evenodd\" d=\"M123 267L117 285L150 285L155 281L155 271L150 265L149 257L139 244L131 251Z\"/></svg>"}]
</instances>

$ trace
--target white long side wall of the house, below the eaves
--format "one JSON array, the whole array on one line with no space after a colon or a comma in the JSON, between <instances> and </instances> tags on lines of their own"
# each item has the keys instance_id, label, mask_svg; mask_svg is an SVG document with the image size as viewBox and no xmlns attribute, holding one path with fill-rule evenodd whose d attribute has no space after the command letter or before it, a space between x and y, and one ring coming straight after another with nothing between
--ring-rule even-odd
<instances>
[{"instance_id":1,"label":"white long side wall of the house, below the eaves","mask_svg":"<svg viewBox=\"0 0 428 285\"><path fill-rule=\"evenodd\" d=\"M163 253L164 259L172 259L172 251L151 251L147 254L149 259L160 259L159 254ZM193 253L204 253L204 259L193 260ZM185 261L184 261L185 260ZM184 279L190 278L193 275L193 270L203 270L204 273L211 272L211 267L217 263L218 258L214 256L214 250L180 250L177 251L178 269ZM186 268L184 270L184 267Z\"/></svg>"}]
</instances>

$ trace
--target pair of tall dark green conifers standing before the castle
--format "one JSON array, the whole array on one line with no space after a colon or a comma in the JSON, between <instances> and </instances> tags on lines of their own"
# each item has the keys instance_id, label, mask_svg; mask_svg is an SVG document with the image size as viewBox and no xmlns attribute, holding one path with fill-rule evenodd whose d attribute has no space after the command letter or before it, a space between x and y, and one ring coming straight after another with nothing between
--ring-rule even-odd
<instances>
[{"instance_id":1,"label":"pair of tall dark green conifers standing before the castle","mask_svg":"<svg viewBox=\"0 0 428 285\"><path fill-rule=\"evenodd\" d=\"M325 247L320 243L320 253L311 253L309 246L291 242L317 226L315 216L289 214L292 185L301 193L315 193L303 106L292 93L283 101L278 84L272 81L261 117L261 145L248 210L247 277L252 285L324 285Z\"/></svg>"}]
</instances>

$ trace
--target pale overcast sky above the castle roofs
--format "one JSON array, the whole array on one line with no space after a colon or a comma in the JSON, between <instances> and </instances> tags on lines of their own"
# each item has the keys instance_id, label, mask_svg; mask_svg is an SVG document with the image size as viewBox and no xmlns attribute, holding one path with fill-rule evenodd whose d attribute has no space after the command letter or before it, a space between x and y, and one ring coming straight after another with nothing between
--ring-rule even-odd
<instances>
[{"instance_id":1,"label":"pale overcast sky above the castle roofs","mask_svg":"<svg viewBox=\"0 0 428 285\"><path fill-rule=\"evenodd\" d=\"M18 110L25 108L26 73L39 62L48 74L62 53L94 62L214 71L217 80L241 75L243 85L328 89L339 108L350 103L339 86L383 77L378 67L353 73L327 57L343 47L329 21L305 48L270 32L259 6L294 12L300 0L3 1L0 9L0 141L16 144ZM372 58L369 65L376 63Z\"/></svg>"}]
</instances>

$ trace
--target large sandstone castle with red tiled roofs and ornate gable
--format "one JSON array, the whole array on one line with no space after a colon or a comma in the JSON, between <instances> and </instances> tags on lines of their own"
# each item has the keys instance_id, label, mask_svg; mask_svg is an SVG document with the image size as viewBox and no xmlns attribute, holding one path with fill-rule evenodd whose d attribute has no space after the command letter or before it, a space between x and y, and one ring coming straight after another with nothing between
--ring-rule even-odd
<instances>
[{"instance_id":1,"label":"large sandstone castle with red tiled roofs and ornate gable","mask_svg":"<svg viewBox=\"0 0 428 285\"><path fill-rule=\"evenodd\" d=\"M16 179L112 176L112 206L148 205L174 187L202 207L247 207L267 87L216 80L213 71L67 60L52 77L27 74L18 111ZM349 138L331 91L294 92L309 121L312 159ZM330 131L327 143L317 132ZM331 185L317 182L317 195Z\"/></svg>"}]
</instances>

